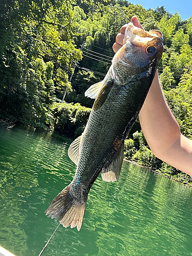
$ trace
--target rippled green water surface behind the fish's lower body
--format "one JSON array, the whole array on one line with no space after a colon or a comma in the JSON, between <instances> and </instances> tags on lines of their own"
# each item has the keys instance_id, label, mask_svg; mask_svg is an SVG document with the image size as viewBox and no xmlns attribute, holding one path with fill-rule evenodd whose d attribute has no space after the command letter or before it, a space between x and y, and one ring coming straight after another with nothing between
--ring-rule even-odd
<instances>
[{"instance_id":1,"label":"rippled green water surface behind the fish's lower body","mask_svg":"<svg viewBox=\"0 0 192 256\"><path fill-rule=\"evenodd\" d=\"M68 185L72 140L0 127L0 245L38 255L58 225L44 211ZM43 255L192 255L192 190L124 162L117 182L92 186L81 230L59 226Z\"/></svg>"}]
</instances>

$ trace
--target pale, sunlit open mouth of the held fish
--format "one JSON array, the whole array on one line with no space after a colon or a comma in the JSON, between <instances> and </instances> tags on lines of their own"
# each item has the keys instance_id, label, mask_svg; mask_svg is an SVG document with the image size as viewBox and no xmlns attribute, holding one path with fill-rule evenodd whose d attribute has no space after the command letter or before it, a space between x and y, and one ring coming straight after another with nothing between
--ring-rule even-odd
<instances>
[{"instance_id":1,"label":"pale, sunlit open mouth of the held fish","mask_svg":"<svg viewBox=\"0 0 192 256\"><path fill-rule=\"evenodd\" d=\"M141 28L135 27L133 23L130 22L125 30L123 45L127 42L127 40L146 44L146 42L153 40L154 37L163 40L163 34L160 30L150 30L147 32Z\"/></svg>"}]
</instances>

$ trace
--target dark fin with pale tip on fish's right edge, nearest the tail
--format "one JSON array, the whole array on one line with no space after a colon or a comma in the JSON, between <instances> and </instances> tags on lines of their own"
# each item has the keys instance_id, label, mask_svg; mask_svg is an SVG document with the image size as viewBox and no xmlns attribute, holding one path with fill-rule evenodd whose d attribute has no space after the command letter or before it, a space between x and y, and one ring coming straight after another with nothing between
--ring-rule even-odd
<instances>
[{"instance_id":1,"label":"dark fin with pale tip on fish's right edge, nearest the tail","mask_svg":"<svg viewBox=\"0 0 192 256\"><path fill-rule=\"evenodd\" d=\"M102 169L101 177L104 181L117 181L120 176L124 156L124 143L120 146L119 152L112 163Z\"/></svg>"}]
</instances>

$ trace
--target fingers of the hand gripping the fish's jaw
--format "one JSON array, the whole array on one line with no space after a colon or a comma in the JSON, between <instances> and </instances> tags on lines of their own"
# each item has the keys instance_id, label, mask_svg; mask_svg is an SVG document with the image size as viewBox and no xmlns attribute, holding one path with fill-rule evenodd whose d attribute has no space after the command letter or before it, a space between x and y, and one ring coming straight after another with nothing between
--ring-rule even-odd
<instances>
[{"instance_id":1,"label":"fingers of the hand gripping the fish's jaw","mask_svg":"<svg viewBox=\"0 0 192 256\"><path fill-rule=\"evenodd\" d=\"M133 16L132 19L131 19L131 22L133 23L133 25L135 27L138 27L138 28L144 30L144 28L139 23L139 20L138 20L137 16ZM127 24L122 26L121 29L120 29L120 33L116 36L116 42L113 45L113 51L115 53L123 46L123 38L124 38L124 33L125 33L126 26L127 26Z\"/></svg>"}]
</instances>

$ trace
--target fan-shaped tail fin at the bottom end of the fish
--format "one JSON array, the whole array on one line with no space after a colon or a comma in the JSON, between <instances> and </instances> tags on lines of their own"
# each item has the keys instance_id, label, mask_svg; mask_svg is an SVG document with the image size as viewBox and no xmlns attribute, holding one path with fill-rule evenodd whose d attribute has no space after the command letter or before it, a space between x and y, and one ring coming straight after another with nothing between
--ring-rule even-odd
<instances>
[{"instance_id":1,"label":"fan-shaped tail fin at the bottom end of the fish","mask_svg":"<svg viewBox=\"0 0 192 256\"><path fill-rule=\"evenodd\" d=\"M63 227L77 227L79 231L82 225L86 202L79 202L69 193L70 185L65 187L51 202L46 215L59 221Z\"/></svg>"}]
</instances>

